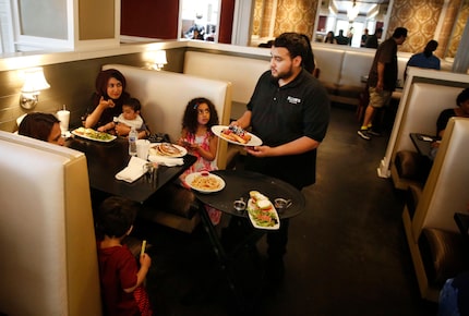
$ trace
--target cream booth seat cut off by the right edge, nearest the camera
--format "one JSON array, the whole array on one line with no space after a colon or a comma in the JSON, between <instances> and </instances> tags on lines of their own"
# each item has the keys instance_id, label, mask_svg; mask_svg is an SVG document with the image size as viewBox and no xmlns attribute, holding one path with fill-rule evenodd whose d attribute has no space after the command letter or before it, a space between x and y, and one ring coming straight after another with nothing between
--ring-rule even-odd
<instances>
[{"instance_id":1,"label":"cream booth seat cut off by the right edge, nearest the camera","mask_svg":"<svg viewBox=\"0 0 469 316\"><path fill-rule=\"evenodd\" d=\"M468 269L467 245L454 221L469 203L469 119L452 118L416 206L402 220L420 294L437 301L446 278Z\"/></svg>"}]
</instances>

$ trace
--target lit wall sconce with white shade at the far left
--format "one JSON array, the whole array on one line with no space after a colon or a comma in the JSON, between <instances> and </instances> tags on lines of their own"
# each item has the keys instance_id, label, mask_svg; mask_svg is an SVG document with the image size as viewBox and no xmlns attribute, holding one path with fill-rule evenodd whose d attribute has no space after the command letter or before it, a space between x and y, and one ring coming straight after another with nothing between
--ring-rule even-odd
<instances>
[{"instance_id":1,"label":"lit wall sconce with white shade at the far left","mask_svg":"<svg viewBox=\"0 0 469 316\"><path fill-rule=\"evenodd\" d=\"M44 76L43 68L32 68L24 71L24 85L21 89L20 106L26 110L36 107L40 90L50 88Z\"/></svg>"}]
</instances>

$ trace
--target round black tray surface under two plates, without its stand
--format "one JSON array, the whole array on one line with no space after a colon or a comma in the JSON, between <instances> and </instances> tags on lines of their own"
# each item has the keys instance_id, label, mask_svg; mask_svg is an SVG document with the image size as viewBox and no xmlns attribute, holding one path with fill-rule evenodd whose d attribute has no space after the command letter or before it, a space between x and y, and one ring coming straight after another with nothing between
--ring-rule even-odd
<instances>
[{"instance_id":1,"label":"round black tray surface under two plates, without its stand","mask_svg":"<svg viewBox=\"0 0 469 316\"><path fill-rule=\"evenodd\" d=\"M261 173L241 170L217 170L211 173L219 175L225 181L225 189L220 192L204 194L194 191L195 196L202 203L232 216L248 217L246 211L238 211L233 208L233 202L242 197L249 199L250 191L258 191L273 203L277 197L290 199L291 206L279 214L280 219L299 215L305 208L303 194L289 183L267 177Z\"/></svg>"}]
</instances>

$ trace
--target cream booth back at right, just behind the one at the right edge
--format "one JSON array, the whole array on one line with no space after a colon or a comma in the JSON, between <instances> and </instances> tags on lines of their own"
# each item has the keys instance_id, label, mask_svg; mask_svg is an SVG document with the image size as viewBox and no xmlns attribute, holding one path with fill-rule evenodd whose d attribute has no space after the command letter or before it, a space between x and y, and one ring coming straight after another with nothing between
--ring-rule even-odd
<instances>
[{"instance_id":1,"label":"cream booth back at right, just behind the one at the right edge","mask_svg":"<svg viewBox=\"0 0 469 316\"><path fill-rule=\"evenodd\" d=\"M417 153L409 134L436 135L436 120L440 113L444 109L456 107L456 98L461 90L462 88L458 87L426 83L416 83L411 86L392 154L390 175L396 189L407 190L409 184L418 183L413 179L401 177L399 170L406 167L396 167L396 163L402 163L399 159L396 160L397 155L400 157L405 151Z\"/></svg>"}]
</instances>

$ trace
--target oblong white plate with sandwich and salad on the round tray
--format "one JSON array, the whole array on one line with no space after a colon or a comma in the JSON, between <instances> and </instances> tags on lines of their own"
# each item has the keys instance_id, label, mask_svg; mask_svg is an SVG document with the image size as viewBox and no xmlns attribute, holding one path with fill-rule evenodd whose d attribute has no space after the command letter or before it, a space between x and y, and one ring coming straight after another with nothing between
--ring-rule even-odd
<instances>
[{"instance_id":1,"label":"oblong white plate with sandwich and salad on the round tray","mask_svg":"<svg viewBox=\"0 0 469 316\"><path fill-rule=\"evenodd\" d=\"M251 191L249 195L246 210L252 224L258 229L279 229L280 218L268 197L257 191Z\"/></svg>"}]
</instances>

